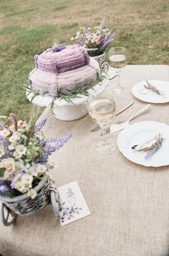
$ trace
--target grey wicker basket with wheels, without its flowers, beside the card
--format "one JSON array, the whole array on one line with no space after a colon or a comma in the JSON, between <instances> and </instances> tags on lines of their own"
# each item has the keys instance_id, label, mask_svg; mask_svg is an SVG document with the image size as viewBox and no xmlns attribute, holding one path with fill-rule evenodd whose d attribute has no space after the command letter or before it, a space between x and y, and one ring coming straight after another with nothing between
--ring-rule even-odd
<instances>
[{"instance_id":1,"label":"grey wicker basket with wheels, without its flowers, beside the card","mask_svg":"<svg viewBox=\"0 0 169 256\"><path fill-rule=\"evenodd\" d=\"M34 199L31 199L28 195L19 195L12 198L0 196L0 217L4 225L11 225L17 215L25 216L41 211L51 201L55 215L59 218L61 217L61 204L58 191L50 187L50 181L47 176L42 178L42 181L39 182L34 190L37 192ZM55 198L55 200L53 198ZM4 215L5 209L8 212L7 217ZM12 217L10 221L9 214Z\"/></svg>"}]
</instances>

